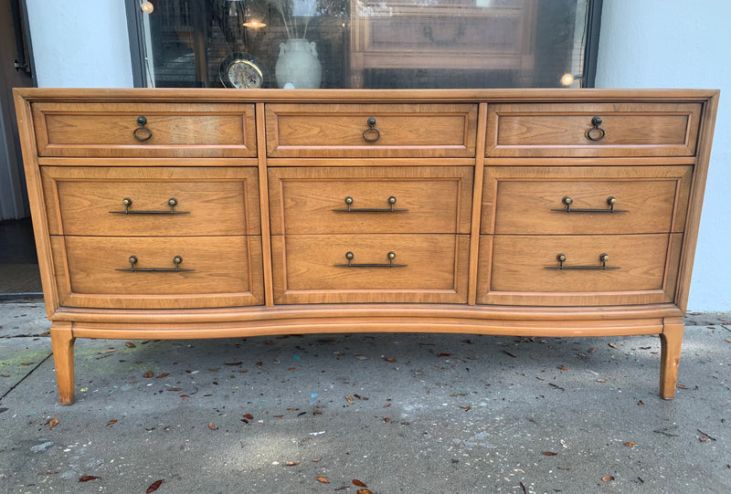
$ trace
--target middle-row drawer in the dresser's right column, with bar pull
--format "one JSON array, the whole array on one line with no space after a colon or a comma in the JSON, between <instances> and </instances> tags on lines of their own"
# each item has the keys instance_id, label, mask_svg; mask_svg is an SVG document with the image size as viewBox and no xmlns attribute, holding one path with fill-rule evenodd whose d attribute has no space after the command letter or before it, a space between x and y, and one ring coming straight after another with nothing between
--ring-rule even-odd
<instances>
[{"instance_id":1,"label":"middle-row drawer in the dresser's right column, with bar pull","mask_svg":"<svg viewBox=\"0 0 731 494\"><path fill-rule=\"evenodd\" d=\"M682 232L693 167L486 167L483 234Z\"/></svg>"}]
</instances>

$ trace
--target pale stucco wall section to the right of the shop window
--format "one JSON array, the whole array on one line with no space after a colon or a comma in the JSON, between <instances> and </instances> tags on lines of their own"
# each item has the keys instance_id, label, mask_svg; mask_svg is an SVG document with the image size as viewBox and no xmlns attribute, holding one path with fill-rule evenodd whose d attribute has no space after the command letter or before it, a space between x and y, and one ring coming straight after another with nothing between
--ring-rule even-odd
<instances>
[{"instance_id":1,"label":"pale stucco wall section to the right of the shop window","mask_svg":"<svg viewBox=\"0 0 731 494\"><path fill-rule=\"evenodd\" d=\"M731 2L605 0L598 88L721 89L688 310L731 310Z\"/></svg>"}]
</instances>

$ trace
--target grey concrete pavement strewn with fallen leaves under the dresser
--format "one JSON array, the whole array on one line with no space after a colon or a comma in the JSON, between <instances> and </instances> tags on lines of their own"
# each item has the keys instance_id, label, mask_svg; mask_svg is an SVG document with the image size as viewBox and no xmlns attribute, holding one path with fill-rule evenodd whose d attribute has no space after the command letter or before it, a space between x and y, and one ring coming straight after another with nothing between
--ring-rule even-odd
<instances>
[{"instance_id":1,"label":"grey concrete pavement strewn with fallen leaves under the dresser","mask_svg":"<svg viewBox=\"0 0 731 494\"><path fill-rule=\"evenodd\" d=\"M730 317L686 318L672 401L655 337L343 334L80 340L63 406L4 302L0 492L727 494Z\"/></svg>"}]
</instances>

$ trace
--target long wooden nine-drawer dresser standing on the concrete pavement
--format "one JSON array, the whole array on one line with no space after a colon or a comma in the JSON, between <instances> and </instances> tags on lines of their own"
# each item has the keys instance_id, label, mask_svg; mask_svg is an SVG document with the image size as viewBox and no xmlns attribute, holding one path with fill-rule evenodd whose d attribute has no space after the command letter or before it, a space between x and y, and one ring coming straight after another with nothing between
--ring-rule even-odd
<instances>
[{"instance_id":1,"label":"long wooden nine-drawer dresser standing on the concrete pavement","mask_svg":"<svg viewBox=\"0 0 731 494\"><path fill-rule=\"evenodd\" d=\"M672 398L717 100L16 89L60 402L76 338L352 331L659 333Z\"/></svg>"}]
</instances>

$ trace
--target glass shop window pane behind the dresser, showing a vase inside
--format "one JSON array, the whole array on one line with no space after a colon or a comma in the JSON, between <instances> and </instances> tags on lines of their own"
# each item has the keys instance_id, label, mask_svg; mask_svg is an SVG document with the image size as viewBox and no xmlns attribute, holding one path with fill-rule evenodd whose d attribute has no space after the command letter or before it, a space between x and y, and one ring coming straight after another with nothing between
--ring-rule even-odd
<instances>
[{"instance_id":1,"label":"glass shop window pane behind the dresser, showing a vase inside","mask_svg":"<svg viewBox=\"0 0 731 494\"><path fill-rule=\"evenodd\" d=\"M589 0L151 1L156 87L577 86L587 55Z\"/></svg>"}]
</instances>

